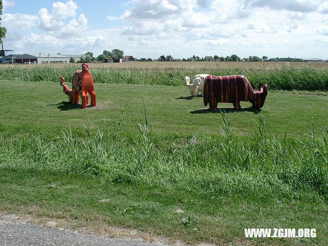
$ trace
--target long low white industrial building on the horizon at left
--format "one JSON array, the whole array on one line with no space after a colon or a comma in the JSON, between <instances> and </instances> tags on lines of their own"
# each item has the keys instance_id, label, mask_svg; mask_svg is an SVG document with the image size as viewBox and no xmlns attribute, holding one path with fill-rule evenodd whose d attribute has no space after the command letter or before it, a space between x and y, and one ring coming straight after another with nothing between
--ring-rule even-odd
<instances>
[{"instance_id":1,"label":"long low white industrial building on the horizon at left","mask_svg":"<svg viewBox=\"0 0 328 246\"><path fill-rule=\"evenodd\" d=\"M87 55L62 55L62 54L10 54L0 58L1 62L18 64L46 64L46 63L69 63L70 59L78 61L85 59Z\"/></svg>"}]
</instances>

